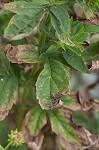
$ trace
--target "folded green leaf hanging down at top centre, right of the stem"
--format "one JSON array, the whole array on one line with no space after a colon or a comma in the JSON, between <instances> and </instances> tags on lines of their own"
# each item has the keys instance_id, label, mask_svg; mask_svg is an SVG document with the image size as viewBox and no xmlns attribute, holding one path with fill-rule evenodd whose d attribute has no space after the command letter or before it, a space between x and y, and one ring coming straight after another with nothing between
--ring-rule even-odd
<instances>
[{"instance_id":1,"label":"folded green leaf hanging down at top centre, right of the stem","mask_svg":"<svg viewBox=\"0 0 99 150\"><path fill-rule=\"evenodd\" d=\"M61 6L51 6L50 7L50 16L51 16L51 23L59 39L65 43L66 37L68 37L70 32L70 22L69 22L69 15L66 9Z\"/></svg>"}]
</instances>

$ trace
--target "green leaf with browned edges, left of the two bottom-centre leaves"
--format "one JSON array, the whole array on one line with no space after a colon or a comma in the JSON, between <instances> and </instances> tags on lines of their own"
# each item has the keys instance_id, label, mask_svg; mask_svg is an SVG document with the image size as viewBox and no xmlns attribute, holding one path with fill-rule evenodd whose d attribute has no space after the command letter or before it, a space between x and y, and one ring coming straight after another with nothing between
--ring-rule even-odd
<instances>
[{"instance_id":1,"label":"green leaf with browned edges, left of the two bottom-centre leaves","mask_svg":"<svg viewBox=\"0 0 99 150\"><path fill-rule=\"evenodd\" d=\"M34 107L30 111L30 117L27 124L27 127L32 136L37 136L40 130L46 125L46 123L46 112L42 110L40 106Z\"/></svg>"}]
</instances>

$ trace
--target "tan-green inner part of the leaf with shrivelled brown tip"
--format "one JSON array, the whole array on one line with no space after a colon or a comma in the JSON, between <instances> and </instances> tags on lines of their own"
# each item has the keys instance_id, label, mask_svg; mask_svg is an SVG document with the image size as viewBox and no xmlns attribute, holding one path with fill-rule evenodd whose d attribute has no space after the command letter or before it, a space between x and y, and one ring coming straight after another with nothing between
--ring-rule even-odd
<instances>
[{"instance_id":1,"label":"tan-green inner part of the leaf with shrivelled brown tip","mask_svg":"<svg viewBox=\"0 0 99 150\"><path fill-rule=\"evenodd\" d=\"M18 45L16 59L24 63L37 63L39 58L38 50L32 45Z\"/></svg>"}]
</instances>

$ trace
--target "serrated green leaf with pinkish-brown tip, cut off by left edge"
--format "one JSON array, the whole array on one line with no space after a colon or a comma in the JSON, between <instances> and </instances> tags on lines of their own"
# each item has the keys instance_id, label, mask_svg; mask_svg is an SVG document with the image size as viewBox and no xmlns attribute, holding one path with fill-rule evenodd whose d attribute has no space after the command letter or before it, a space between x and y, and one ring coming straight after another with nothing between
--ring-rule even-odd
<instances>
[{"instance_id":1,"label":"serrated green leaf with pinkish-brown tip, cut off by left edge","mask_svg":"<svg viewBox=\"0 0 99 150\"><path fill-rule=\"evenodd\" d=\"M0 120L3 120L17 101L18 83L14 76L0 76Z\"/></svg>"}]
</instances>

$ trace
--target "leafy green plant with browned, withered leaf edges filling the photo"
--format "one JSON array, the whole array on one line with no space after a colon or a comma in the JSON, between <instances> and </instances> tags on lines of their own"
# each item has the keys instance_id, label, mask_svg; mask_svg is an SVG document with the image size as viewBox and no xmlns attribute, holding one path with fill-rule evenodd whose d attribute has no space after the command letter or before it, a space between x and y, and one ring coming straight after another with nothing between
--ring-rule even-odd
<instances>
[{"instance_id":1,"label":"leafy green plant with browned, withered leaf edges filling the photo","mask_svg":"<svg viewBox=\"0 0 99 150\"><path fill-rule=\"evenodd\" d=\"M99 38L92 39L99 32L98 0L15 0L0 7L1 23L9 14L7 27L2 25L0 31L0 120L16 104L10 115L14 113L15 128L22 130L28 148L40 149L44 135L54 138L59 150L71 150L72 145L75 150L97 148L97 139L93 142L88 131L73 122L77 105L85 109L80 96L68 91L72 70L90 74L99 69Z\"/></svg>"}]
</instances>

